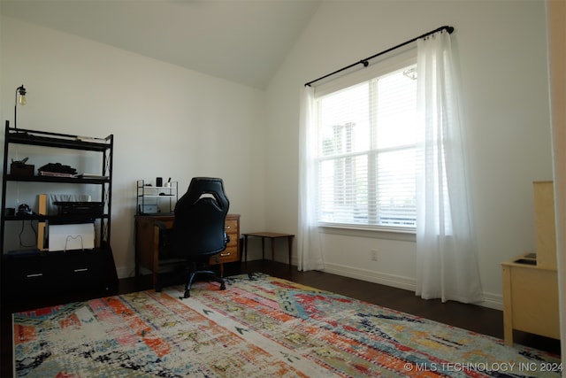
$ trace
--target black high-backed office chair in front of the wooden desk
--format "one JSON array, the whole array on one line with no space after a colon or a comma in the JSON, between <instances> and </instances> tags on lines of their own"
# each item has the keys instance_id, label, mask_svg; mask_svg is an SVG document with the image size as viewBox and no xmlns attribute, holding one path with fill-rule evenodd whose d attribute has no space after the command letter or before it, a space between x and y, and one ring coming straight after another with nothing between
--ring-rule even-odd
<instances>
[{"instance_id":1,"label":"black high-backed office chair in front of the wooden desk","mask_svg":"<svg viewBox=\"0 0 566 378\"><path fill-rule=\"evenodd\" d=\"M199 269L208 266L210 257L226 250L229 239L225 222L229 205L222 179L210 177L193 178L187 193L175 205L173 226L168 230L167 242L162 248L174 257L187 259L186 298L190 297L191 285L197 275L220 283L221 290L226 289L221 277L211 270Z\"/></svg>"}]
</instances>

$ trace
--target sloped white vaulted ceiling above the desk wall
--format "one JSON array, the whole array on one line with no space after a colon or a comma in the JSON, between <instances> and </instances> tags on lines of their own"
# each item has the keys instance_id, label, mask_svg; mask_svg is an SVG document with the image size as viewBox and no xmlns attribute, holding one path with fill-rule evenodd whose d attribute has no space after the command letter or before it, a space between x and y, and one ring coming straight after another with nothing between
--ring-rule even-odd
<instances>
[{"instance_id":1,"label":"sloped white vaulted ceiling above the desk wall","mask_svg":"<svg viewBox=\"0 0 566 378\"><path fill-rule=\"evenodd\" d=\"M0 0L43 27L263 89L319 0Z\"/></svg>"}]
</instances>

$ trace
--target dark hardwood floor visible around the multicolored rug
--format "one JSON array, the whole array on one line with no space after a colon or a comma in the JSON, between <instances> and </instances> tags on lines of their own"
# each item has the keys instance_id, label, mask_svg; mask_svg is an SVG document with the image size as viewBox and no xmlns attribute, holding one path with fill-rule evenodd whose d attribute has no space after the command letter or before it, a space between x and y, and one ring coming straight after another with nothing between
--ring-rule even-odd
<instances>
[{"instance_id":1,"label":"dark hardwood floor visible around the multicolored rug","mask_svg":"<svg viewBox=\"0 0 566 378\"><path fill-rule=\"evenodd\" d=\"M244 266L242 266L241 269L240 266L226 266L225 275L239 274L241 271L245 272ZM354 297L374 305L381 305L426 319L436 320L451 326L503 338L503 312L498 310L478 305L464 305L457 302L441 303L440 300L424 300L416 297L415 293L409 290L396 289L377 283L364 282L324 272L299 272L296 266L289 267L281 263L272 264L271 261L266 260L250 261L247 266L247 271L250 273L262 272L271 274L317 289L324 289L348 297ZM141 278L119 280L118 294L126 294L143 289L151 289L149 275L142 276ZM73 297L71 301L87 300L101 296L100 293L83 293ZM65 297L65 302L68 301L69 298ZM11 376L11 313L65 302L57 301L56 297L37 298L34 301L27 301L25 303L5 304L3 302L1 309L2 324L0 328L0 376ZM515 343L531 346L542 351L560 354L560 342L558 340L515 331L514 341Z\"/></svg>"}]
</instances>

